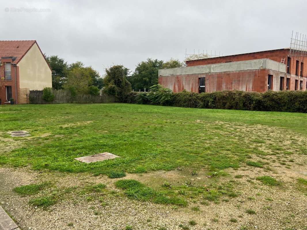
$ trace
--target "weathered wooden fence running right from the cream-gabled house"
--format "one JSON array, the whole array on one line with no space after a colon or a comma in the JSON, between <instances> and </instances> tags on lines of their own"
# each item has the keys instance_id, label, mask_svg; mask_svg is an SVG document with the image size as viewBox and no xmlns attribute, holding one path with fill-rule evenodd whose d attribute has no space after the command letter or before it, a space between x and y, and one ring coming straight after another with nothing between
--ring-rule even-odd
<instances>
[{"instance_id":1,"label":"weathered wooden fence running right from the cream-gabled house","mask_svg":"<svg viewBox=\"0 0 307 230\"><path fill-rule=\"evenodd\" d=\"M42 90L30 90L29 99L31 104L63 104L63 103L105 103L116 102L117 99L114 96L107 94L92 96L90 94L79 94L72 97L69 90L52 90L54 94L54 100L47 102L42 99Z\"/></svg>"}]
</instances>

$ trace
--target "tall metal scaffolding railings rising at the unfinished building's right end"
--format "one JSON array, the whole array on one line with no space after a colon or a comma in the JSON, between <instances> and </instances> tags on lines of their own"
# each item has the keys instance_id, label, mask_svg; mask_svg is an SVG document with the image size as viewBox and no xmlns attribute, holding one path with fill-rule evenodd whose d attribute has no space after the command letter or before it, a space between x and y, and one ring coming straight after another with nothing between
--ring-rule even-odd
<instances>
[{"instance_id":1,"label":"tall metal scaffolding railings rising at the unfinished building's right end","mask_svg":"<svg viewBox=\"0 0 307 230\"><path fill-rule=\"evenodd\" d=\"M293 37L294 36L294 37ZM307 35L292 31L289 56L307 56Z\"/></svg>"}]
</instances>

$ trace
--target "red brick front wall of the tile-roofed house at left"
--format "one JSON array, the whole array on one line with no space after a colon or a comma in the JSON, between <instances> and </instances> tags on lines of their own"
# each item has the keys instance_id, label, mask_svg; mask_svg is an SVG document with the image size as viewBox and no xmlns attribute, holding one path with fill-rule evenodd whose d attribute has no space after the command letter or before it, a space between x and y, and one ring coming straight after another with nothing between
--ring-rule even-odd
<instances>
[{"instance_id":1,"label":"red brick front wall of the tile-roofed house at left","mask_svg":"<svg viewBox=\"0 0 307 230\"><path fill-rule=\"evenodd\" d=\"M16 98L16 91L15 91L15 67L13 65L11 65L11 78L12 80L2 80L1 78L4 78L4 63L5 62L12 62L12 59L2 59L1 63L2 66L0 66L0 98L1 98L1 104L3 105L4 102L6 102L6 90L5 90L5 86L11 86L12 87L12 98L14 98L14 103L16 104L16 102L18 103L18 91L19 91L19 78L18 78L18 74L19 74L19 69L16 66L16 75L17 75L17 98ZM10 98L8 98L10 99Z\"/></svg>"}]
</instances>

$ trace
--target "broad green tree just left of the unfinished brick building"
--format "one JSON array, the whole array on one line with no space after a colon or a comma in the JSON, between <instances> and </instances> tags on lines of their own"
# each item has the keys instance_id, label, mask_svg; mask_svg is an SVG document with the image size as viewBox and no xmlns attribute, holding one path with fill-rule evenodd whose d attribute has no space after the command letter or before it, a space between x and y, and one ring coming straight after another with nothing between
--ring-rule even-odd
<instances>
[{"instance_id":1,"label":"broad green tree just left of the unfinished brick building","mask_svg":"<svg viewBox=\"0 0 307 230\"><path fill-rule=\"evenodd\" d=\"M132 88L136 91L149 89L158 83L158 70L162 69L163 61L148 58L138 63L134 73L128 77Z\"/></svg>"}]
</instances>

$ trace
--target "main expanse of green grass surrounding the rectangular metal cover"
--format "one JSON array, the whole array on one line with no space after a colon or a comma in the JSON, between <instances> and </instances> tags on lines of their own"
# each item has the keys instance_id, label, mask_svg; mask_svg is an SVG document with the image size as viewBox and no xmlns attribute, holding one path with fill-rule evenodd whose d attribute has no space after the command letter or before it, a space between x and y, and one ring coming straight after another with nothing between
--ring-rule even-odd
<instances>
[{"instance_id":1,"label":"main expanse of green grass surrounding the rectangular metal cover","mask_svg":"<svg viewBox=\"0 0 307 230\"><path fill-rule=\"evenodd\" d=\"M187 165L194 170L207 165L216 169L238 168L249 155L266 154L257 147L264 143L256 143L257 146L246 144L250 135L254 139L256 136L255 140L262 140L264 136L256 131L240 132L233 126L253 128L253 125L260 124L289 135L307 132L307 118L301 113L120 103L0 108L2 137L11 138L6 134L11 130L27 130L36 137L19 138L22 147L2 154L0 164L29 165L34 170L88 171L95 175L110 175L111 171L171 170ZM282 122L285 119L289 122ZM41 137L43 134L50 135ZM270 136L274 140L274 133ZM302 153L307 151L305 145L293 145L293 148ZM91 164L74 160L104 151L120 158Z\"/></svg>"}]
</instances>

